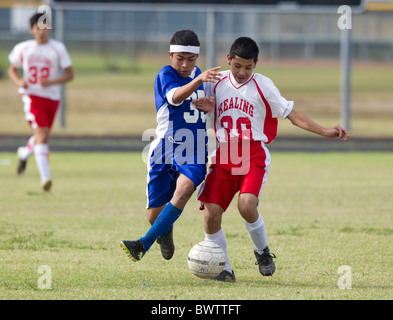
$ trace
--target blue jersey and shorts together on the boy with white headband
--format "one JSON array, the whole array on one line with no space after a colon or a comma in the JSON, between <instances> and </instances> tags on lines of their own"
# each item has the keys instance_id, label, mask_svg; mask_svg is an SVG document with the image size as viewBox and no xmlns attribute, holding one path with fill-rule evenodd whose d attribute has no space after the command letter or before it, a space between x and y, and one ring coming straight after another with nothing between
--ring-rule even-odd
<instances>
[{"instance_id":1,"label":"blue jersey and shorts together on the boy with white headband","mask_svg":"<svg viewBox=\"0 0 393 320\"><path fill-rule=\"evenodd\" d=\"M154 83L157 109L157 137L149 148L147 208L168 203L181 173L195 188L204 180L207 164L206 114L192 100L204 97L203 85L179 105L171 103L171 90L190 83L201 74L195 67L183 78L171 66L163 67Z\"/></svg>"}]
</instances>

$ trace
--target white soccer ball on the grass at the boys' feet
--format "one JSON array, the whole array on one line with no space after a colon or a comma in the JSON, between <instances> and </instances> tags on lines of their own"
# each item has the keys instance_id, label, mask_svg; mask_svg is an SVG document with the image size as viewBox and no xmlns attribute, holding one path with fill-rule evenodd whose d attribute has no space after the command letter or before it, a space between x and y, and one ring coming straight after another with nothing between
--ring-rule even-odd
<instances>
[{"instance_id":1,"label":"white soccer ball on the grass at the boys' feet","mask_svg":"<svg viewBox=\"0 0 393 320\"><path fill-rule=\"evenodd\" d=\"M225 253L211 241L202 241L193 246L188 253L188 268L202 279L217 277L225 266Z\"/></svg>"}]
</instances>

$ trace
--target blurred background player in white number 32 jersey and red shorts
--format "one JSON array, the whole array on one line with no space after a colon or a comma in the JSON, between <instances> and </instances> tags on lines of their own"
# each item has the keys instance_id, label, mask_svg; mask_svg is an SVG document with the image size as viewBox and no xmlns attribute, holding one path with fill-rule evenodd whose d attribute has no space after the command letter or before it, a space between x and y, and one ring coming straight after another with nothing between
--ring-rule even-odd
<instances>
[{"instance_id":1,"label":"blurred background player in white number 32 jersey and red shorts","mask_svg":"<svg viewBox=\"0 0 393 320\"><path fill-rule=\"evenodd\" d=\"M49 191L52 186L49 168L49 135L61 93L60 85L73 79L70 56L63 43L49 38L50 29L45 26L44 13L30 18L30 30L34 40L17 44L8 58L8 74L19 87L24 102L26 120L33 129L25 147L18 149L18 174L26 168L27 158L34 153L41 186ZM20 78L18 69L23 70ZM64 73L63 73L64 70Z\"/></svg>"}]
</instances>

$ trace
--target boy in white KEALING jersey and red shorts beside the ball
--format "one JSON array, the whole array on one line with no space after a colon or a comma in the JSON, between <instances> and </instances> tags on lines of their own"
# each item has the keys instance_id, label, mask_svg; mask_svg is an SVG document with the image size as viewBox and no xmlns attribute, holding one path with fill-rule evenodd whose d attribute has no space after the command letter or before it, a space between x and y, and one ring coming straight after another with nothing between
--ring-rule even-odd
<instances>
[{"instance_id":1,"label":"boy in white KEALING jersey and red shorts beside the ball","mask_svg":"<svg viewBox=\"0 0 393 320\"><path fill-rule=\"evenodd\" d=\"M216 84L206 85L206 96L215 98L214 126L219 147L212 155L212 165L198 200L205 207L205 240L217 243L226 252L224 271L216 278L220 281L235 282L221 220L238 191L238 209L254 242L259 271L264 276L271 276L275 271L275 256L267 246L258 204L270 164L265 144L272 142L277 134L277 118L287 118L294 125L327 138L346 140L349 136L339 125L326 129L296 112L293 102L283 98L269 78L254 74L258 53L252 39L238 38L227 55L230 70L222 72ZM198 99L195 104L203 101Z\"/></svg>"}]
</instances>

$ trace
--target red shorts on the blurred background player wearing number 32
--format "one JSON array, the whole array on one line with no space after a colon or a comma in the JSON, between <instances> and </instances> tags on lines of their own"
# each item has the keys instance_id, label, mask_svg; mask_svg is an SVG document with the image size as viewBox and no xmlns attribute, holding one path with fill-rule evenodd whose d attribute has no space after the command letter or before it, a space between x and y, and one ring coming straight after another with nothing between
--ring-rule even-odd
<instances>
[{"instance_id":1,"label":"red shorts on the blurred background player wearing number 32","mask_svg":"<svg viewBox=\"0 0 393 320\"><path fill-rule=\"evenodd\" d=\"M32 95L24 95L26 121L31 128L52 128L60 101Z\"/></svg>"}]
</instances>

